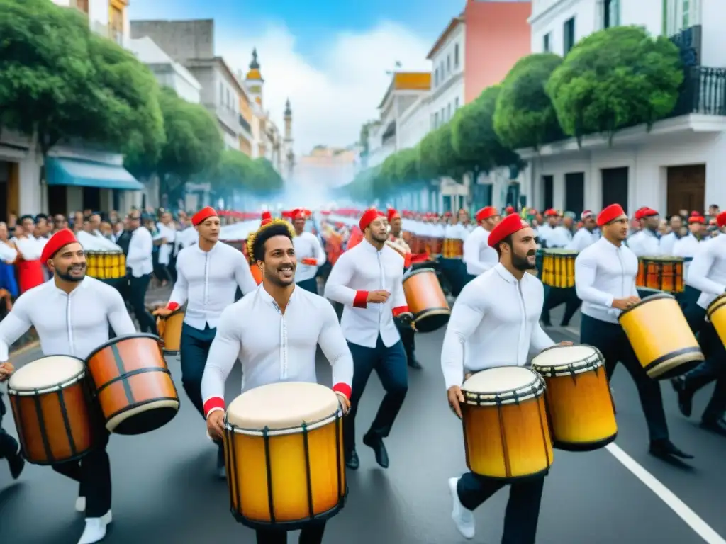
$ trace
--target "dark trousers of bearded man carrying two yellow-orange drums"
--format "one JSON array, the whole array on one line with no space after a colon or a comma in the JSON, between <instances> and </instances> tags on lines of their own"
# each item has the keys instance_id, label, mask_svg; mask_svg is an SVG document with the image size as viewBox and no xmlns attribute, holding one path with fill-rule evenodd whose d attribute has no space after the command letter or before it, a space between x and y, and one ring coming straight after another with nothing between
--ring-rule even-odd
<instances>
[{"instance_id":1,"label":"dark trousers of bearded man carrying two yellow-orange drums","mask_svg":"<svg viewBox=\"0 0 726 544\"><path fill-rule=\"evenodd\" d=\"M459 479L457 495L464 508L476 510L505 485L499 480L467 472ZM544 476L510 484L502 544L534 544L543 488Z\"/></svg>"}]
</instances>

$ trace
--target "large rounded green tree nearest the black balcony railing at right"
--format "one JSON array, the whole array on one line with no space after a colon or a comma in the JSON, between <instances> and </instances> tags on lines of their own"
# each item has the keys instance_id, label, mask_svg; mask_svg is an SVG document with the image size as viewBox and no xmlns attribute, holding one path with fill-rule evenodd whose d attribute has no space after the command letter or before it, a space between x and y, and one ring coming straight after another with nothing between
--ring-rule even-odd
<instances>
[{"instance_id":1,"label":"large rounded green tree nearest the black balcony railing at right","mask_svg":"<svg viewBox=\"0 0 726 544\"><path fill-rule=\"evenodd\" d=\"M547 83L560 125L578 143L587 133L653 123L678 99L683 69L677 46L644 28L600 30L580 41Z\"/></svg>"}]
</instances>

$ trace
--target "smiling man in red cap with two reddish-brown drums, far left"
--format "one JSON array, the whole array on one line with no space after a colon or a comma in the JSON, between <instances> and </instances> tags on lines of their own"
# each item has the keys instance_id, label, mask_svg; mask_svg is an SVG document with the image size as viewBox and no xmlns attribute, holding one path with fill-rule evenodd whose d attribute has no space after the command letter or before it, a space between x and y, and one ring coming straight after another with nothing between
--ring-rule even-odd
<instances>
[{"instance_id":1,"label":"smiling man in red cap with two reddish-brown drums, far left","mask_svg":"<svg viewBox=\"0 0 726 544\"><path fill-rule=\"evenodd\" d=\"M116 334L134 334L134 322L116 289L86 277L86 257L73 232L64 229L46 243L41 262L53 279L20 295L10 313L0 321L0 361L8 368L9 347L35 327L45 355L69 355L85 359L108 341L108 326ZM12 370L12 367L9 367ZM0 382L9 373L0 373ZM82 461L60 463L52 468L78 482L76 510L86 512L86 528L78 544L103 540L111 522L111 469L106 446L108 433L99 432L101 443Z\"/></svg>"}]
</instances>

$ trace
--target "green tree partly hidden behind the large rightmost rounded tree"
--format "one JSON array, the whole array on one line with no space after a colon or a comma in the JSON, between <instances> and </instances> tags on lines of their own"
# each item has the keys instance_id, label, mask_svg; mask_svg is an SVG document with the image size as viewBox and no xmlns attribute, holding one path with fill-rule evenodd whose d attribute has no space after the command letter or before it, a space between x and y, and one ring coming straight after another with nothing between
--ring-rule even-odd
<instances>
[{"instance_id":1,"label":"green tree partly hidden behind the large rightmost rounded tree","mask_svg":"<svg viewBox=\"0 0 726 544\"><path fill-rule=\"evenodd\" d=\"M534 147L562 139L555 107L544 86L562 63L554 53L519 59L502 81L494 110L494 131L510 149Z\"/></svg>"}]
</instances>

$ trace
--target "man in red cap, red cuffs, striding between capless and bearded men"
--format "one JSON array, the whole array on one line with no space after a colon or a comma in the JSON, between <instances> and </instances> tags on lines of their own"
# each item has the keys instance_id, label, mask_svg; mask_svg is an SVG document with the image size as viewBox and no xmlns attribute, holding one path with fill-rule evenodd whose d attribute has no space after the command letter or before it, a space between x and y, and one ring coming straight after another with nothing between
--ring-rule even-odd
<instances>
[{"instance_id":1,"label":"man in red cap, red cuffs, striding between capless and bearded men","mask_svg":"<svg viewBox=\"0 0 726 544\"><path fill-rule=\"evenodd\" d=\"M353 354L355 373L351 413L343 426L346 466L360 466L356 453L355 417L370 373L375 369L386 390L378 414L363 437L375 453L375 461L388 468L383 439L391 432L408 392L406 353L395 319L409 323L402 285L404 263L386 245L388 221L378 210L367 210L359 221L364 239L340 255L325 285L325 298L344 305L340 325Z\"/></svg>"}]
</instances>

